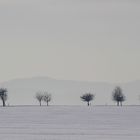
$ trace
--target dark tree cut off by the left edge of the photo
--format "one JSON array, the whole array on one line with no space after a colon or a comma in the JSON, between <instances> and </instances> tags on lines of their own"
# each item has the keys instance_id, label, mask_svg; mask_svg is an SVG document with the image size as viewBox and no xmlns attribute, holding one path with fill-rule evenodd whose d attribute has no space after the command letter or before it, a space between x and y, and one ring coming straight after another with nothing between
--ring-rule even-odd
<instances>
[{"instance_id":1,"label":"dark tree cut off by the left edge of the photo","mask_svg":"<svg viewBox=\"0 0 140 140\"><path fill-rule=\"evenodd\" d=\"M3 106L6 106L6 100L8 98L7 89L0 88L0 99L2 100Z\"/></svg>"}]
</instances>

